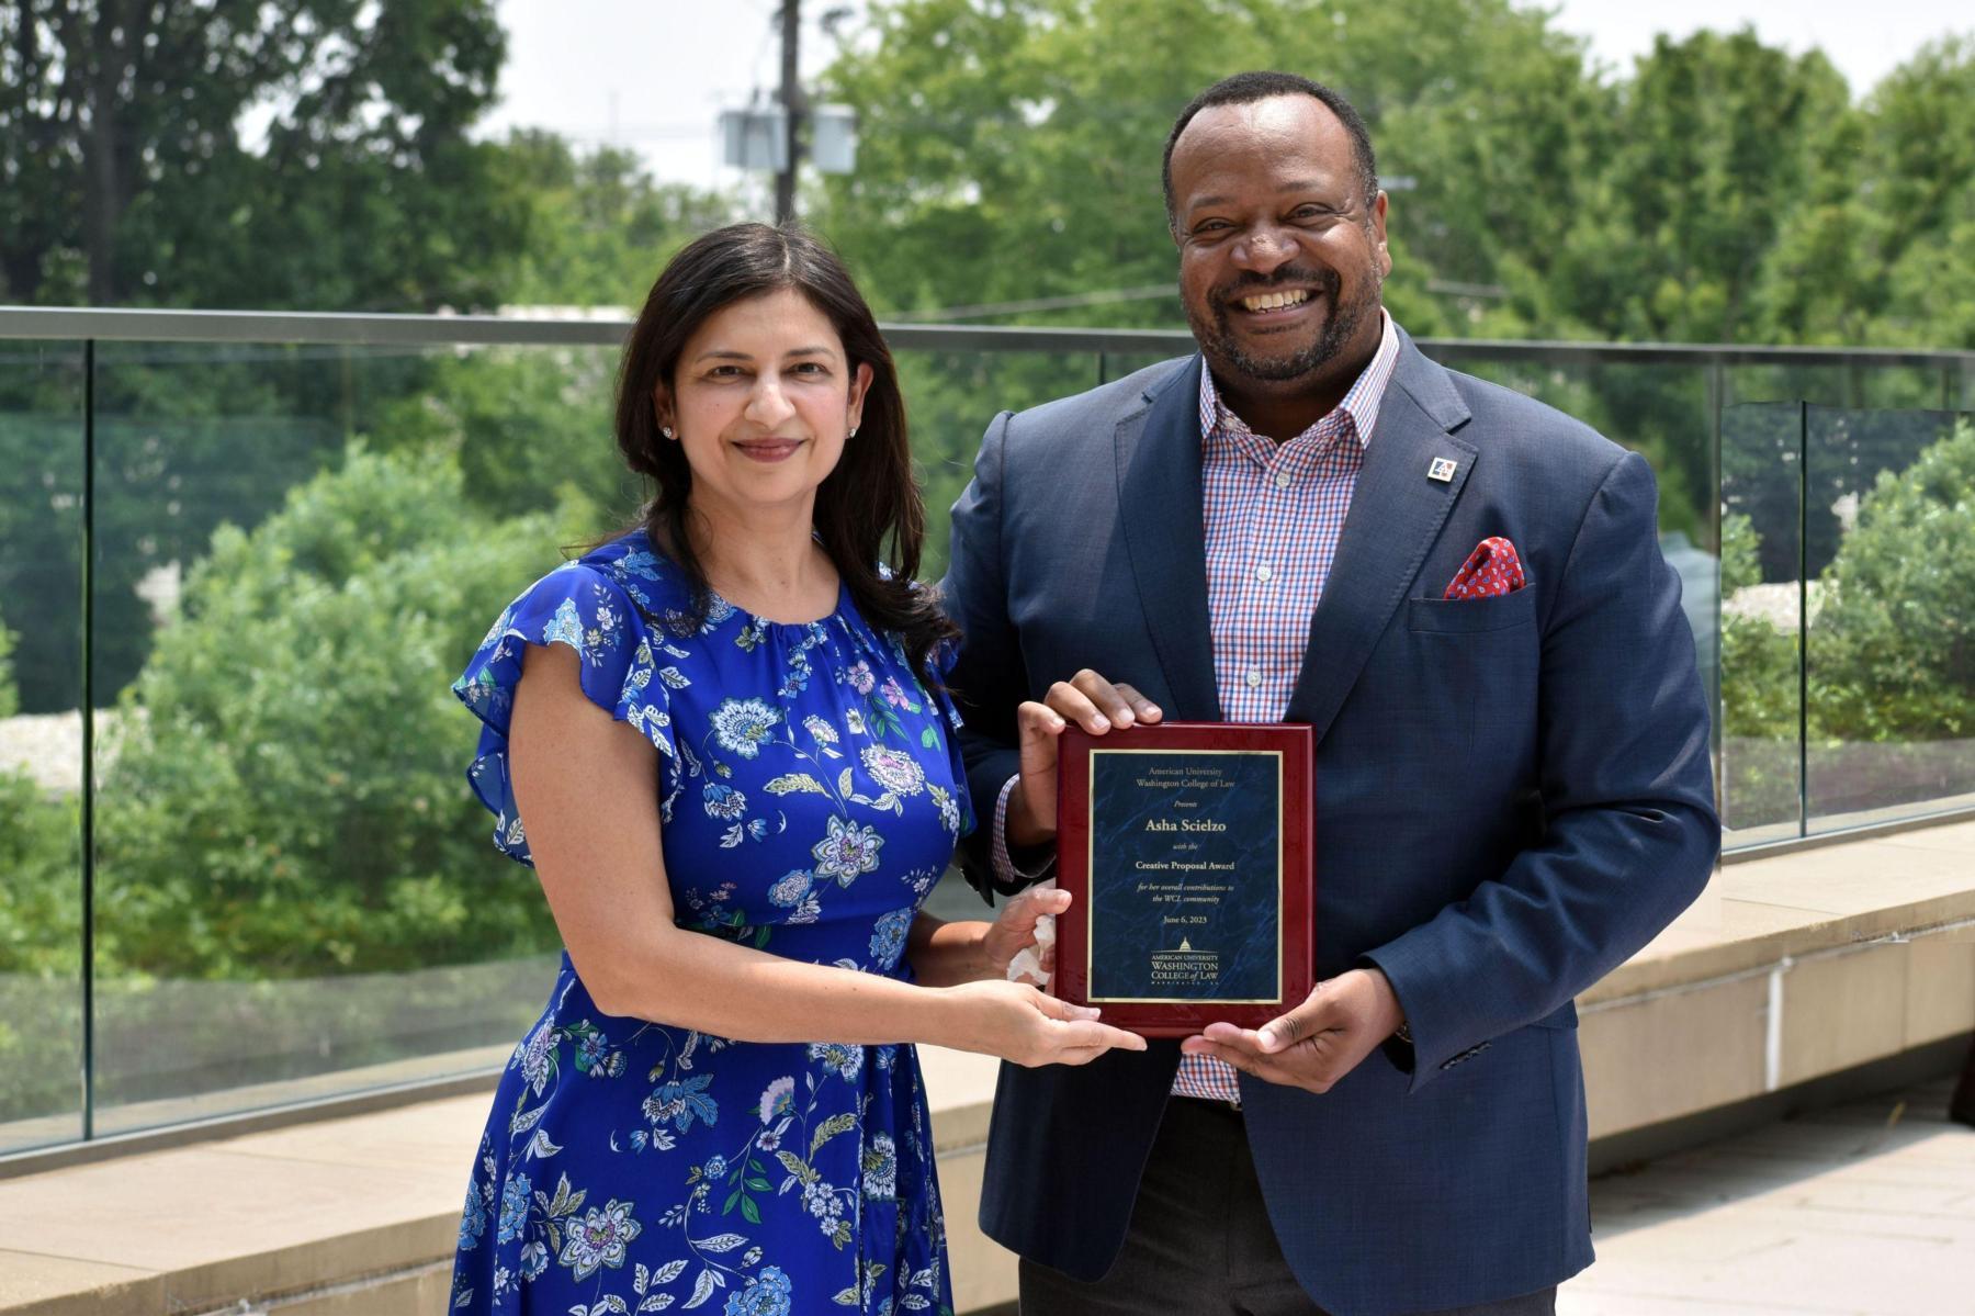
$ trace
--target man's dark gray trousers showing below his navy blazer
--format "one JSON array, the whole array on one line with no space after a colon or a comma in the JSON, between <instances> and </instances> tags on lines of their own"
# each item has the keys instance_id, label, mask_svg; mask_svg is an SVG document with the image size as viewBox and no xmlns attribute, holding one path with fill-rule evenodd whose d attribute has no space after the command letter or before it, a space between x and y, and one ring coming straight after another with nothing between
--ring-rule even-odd
<instances>
[{"instance_id":1,"label":"man's dark gray trousers showing below his navy blazer","mask_svg":"<svg viewBox=\"0 0 1975 1316\"><path fill-rule=\"evenodd\" d=\"M1325 1316L1290 1273L1254 1178L1242 1116L1173 1097L1118 1263L1086 1284L1021 1263L1021 1316ZM1432 1316L1552 1316L1556 1290Z\"/></svg>"}]
</instances>

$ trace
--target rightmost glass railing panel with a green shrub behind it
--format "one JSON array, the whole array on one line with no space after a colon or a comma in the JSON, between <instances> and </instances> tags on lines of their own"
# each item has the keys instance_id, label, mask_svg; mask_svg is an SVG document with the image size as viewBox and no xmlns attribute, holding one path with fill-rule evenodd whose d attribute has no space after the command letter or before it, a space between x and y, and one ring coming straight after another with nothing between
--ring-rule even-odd
<instances>
[{"instance_id":1,"label":"rightmost glass railing panel with a green shrub behind it","mask_svg":"<svg viewBox=\"0 0 1975 1316\"><path fill-rule=\"evenodd\" d=\"M1809 830L1975 806L1975 417L1805 425Z\"/></svg>"}]
</instances>

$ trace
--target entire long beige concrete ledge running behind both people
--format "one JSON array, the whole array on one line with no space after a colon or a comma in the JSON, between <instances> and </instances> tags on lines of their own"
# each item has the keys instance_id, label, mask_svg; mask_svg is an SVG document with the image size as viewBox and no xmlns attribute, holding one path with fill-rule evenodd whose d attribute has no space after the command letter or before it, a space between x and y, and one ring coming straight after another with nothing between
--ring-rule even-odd
<instances>
[{"instance_id":1,"label":"entire long beige concrete ledge running behind both people","mask_svg":"<svg viewBox=\"0 0 1975 1316\"><path fill-rule=\"evenodd\" d=\"M1975 822L1728 865L1580 1014L1594 1158L1708 1136L1860 1065L1939 1063L1975 1029ZM920 1055L956 1308L986 1312L1015 1292L1013 1257L974 1225L995 1063ZM0 1314L438 1316L486 1103L0 1180Z\"/></svg>"}]
</instances>

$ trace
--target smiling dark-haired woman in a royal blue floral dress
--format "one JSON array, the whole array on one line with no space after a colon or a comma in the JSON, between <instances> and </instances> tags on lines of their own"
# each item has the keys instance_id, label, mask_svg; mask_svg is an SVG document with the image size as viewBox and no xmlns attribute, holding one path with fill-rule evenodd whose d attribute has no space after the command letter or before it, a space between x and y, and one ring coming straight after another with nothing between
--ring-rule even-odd
<instances>
[{"instance_id":1,"label":"smiling dark-haired woman in a royal blue floral dress","mask_svg":"<svg viewBox=\"0 0 1975 1316\"><path fill-rule=\"evenodd\" d=\"M454 686L567 954L452 1308L948 1310L910 1043L1144 1043L1003 978L1061 893L918 913L972 818L891 358L828 249L735 225L652 288L616 429L644 526L529 587Z\"/></svg>"}]
</instances>

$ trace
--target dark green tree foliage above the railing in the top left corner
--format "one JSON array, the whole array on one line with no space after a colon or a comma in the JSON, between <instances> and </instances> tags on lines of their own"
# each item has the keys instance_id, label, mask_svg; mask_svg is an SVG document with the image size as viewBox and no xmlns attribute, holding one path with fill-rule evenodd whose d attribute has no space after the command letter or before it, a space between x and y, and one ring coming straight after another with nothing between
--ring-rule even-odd
<instances>
[{"instance_id":1,"label":"dark green tree foliage above the railing in the top left corner","mask_svg":"<svg viewBox=\"0 0 1975 1316\"><path fill-rule=\"evenodd\" d=\"M8 300L482 306L523 241L492 0L24 0L0 49Z\"/></svg>"}]
</instances>

